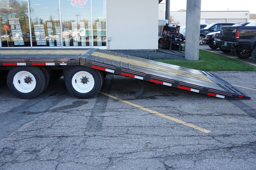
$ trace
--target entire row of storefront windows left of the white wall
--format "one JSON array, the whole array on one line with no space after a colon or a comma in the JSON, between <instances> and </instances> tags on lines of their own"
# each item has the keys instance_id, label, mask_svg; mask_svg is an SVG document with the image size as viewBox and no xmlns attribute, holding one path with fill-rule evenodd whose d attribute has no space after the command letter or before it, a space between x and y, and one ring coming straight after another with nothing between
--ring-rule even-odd
<instances>
[{"instance_id":1,"label":"entire row of storefront windows left of the white wall","mask_svg":"<svg viewBox=\"0 0 256 170\"><path fill-rule=\"evenodd\" d=\"M105 2L0 0L1 47L106 46Z\"/></svg>"}]
</instances>

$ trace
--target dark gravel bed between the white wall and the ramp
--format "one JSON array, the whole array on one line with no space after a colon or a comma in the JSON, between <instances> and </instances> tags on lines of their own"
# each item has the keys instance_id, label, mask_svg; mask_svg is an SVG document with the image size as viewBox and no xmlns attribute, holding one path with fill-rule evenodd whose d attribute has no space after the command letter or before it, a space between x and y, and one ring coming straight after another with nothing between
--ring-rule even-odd
<instances>
[{"instance_id":1,"label":"dark gravel bed between the white wall and the ramp","mask_svg":"<svg viewBox=\"0 0 256 170\"><path fill-rule=\"evenodd\" d=\"M110 50L111 52L128 54L130 56L141 57L146 59L163 59L163 60L187 60L185 53L178 50L158 49L158 50Z\"/></svg>"}]
</instances>

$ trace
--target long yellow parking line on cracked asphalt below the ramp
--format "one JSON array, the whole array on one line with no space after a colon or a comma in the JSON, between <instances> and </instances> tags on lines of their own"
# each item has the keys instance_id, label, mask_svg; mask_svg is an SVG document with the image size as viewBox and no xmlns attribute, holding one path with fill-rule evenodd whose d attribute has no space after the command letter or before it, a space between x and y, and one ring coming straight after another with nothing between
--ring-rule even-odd
<instances>
[{"instance_id":1,"label":"long yellow parking line on cracked asphalt below the ramp","mask_svg":"<svg viewBox=\"0 0 256 170\"><path fill-rule=\"evenodd\" d=\"M168 120L172 120L172 121L175 121L179 124L182 124L182 125L185 125L185 126L189 126L191 128L194 128L194 129L197 129L197 130L200 130L200 131L203 131L204 133L210 133L211 131L210 130L207 130L207 129L203 129L203 128L200 128L199 126L196 126L196 125L192 125L192 124L188 124L184 121L181 121L181 120L178 120L177 118L174 118L174 117L170 117L170 116L167 116L163 113L159 113L159 112L156 112L156 111L152 111L151 109L147 109L147 108L144 108L140 105L137 105L137 104L133 104L133 103L130 103L129 101L126 101L126 100L121 100L121 99L118 99L117 97L115 96L112 96L112 95L109 95L109 94L106 94L104 92L100 92L101 94L103 95L106 95L106 96L109 96L115 100L118 100L118 101L122 101L123 103L126 103L126 104L129 104L129 105L132 105L133 107L137 107L139 109L142 109L143 111L146 111L146 112L150 112L150 113L154 113L158 116L161 116L161 117L164 117L164 118L167 118Z\"/></svg>"}]
</instances>

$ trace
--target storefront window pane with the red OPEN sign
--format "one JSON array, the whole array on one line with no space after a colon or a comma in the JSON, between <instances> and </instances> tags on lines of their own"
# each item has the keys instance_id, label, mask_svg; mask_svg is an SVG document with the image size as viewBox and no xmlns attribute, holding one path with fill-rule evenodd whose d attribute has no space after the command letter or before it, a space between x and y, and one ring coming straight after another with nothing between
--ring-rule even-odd
<instances>
[{"instance_id":1,"label":"storefront window pane with the red OPEN sign","mask_svg":"<svg viewBox=\"0 0 256 170\"><path fill-rule=\"evenodd\" d=\"M64 46L92 46L90 0L62 1Z\"/></svg>"}]
</instances>

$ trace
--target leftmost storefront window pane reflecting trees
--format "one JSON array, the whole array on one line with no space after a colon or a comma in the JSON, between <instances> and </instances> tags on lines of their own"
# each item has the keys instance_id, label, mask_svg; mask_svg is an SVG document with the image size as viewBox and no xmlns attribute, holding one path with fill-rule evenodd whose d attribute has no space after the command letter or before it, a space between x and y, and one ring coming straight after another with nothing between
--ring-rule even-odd
<instances>
[{"instance_id":1,"label":"leftmost storefront window pane reflecting trees","mask_svg":"<svg viewBox=\"0 0 256 170\"><path fill-rule=\"evenodd\" d=\"M30 46L27 0L0 0L1 46Z\"/></svg>"}]
</instances>

